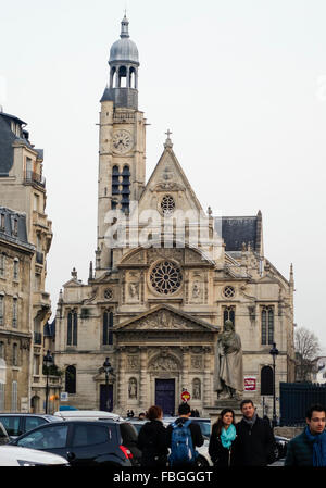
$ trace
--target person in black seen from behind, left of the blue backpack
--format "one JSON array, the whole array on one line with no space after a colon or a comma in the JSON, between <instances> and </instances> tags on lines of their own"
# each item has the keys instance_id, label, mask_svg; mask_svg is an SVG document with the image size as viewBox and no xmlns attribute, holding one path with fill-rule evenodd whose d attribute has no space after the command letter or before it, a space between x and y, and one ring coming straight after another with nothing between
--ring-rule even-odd
<instances>
[{"instance_id":1,"label":"person in black seen from behind, left of the blue backpack","mask_svg":"<svg viewBox=\"0 0 326 488\"><path fill-rule=\"evenodd\" d=\"M141 450L140 463L146 467L166 467L168 450L161 406L153 405L148 409L147 418L149 422L143 424L138 434L137 446Z\"/></svg>"}]
</instances>

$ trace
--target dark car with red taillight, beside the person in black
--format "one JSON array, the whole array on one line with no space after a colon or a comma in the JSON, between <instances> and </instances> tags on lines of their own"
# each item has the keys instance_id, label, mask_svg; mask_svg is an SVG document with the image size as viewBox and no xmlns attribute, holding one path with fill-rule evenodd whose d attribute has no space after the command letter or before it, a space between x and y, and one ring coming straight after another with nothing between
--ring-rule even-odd
<instances>
[{"instance_id":1,"label":"dark car with red taillight, beside the person in black","mask_svg":"<svg viewBox=\"0 0 326 488\"><path fill-rule=\"evenodd\" d=\"M137 466L141 451L136 442L131 424L95 418L41 425L11 443L62 455L72 465Z\"/></svg>"}]
</instances>

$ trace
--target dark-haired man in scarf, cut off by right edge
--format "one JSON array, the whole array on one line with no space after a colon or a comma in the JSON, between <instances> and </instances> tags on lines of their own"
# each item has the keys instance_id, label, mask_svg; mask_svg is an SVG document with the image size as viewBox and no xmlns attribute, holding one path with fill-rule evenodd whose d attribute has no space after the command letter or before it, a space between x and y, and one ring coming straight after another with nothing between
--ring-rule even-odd
<instances>
[{"instance_id":1,"label":"dark-haired man in scarf, cut off by right edge","mask_svg":"<svg viewBox=\"0 0 326 488\"><path fill-rule=\"evenodd\" d=\"M326 409L310 406L306 427L288 443L285 466L326 466Z\"/></svg>"}]
</instances>

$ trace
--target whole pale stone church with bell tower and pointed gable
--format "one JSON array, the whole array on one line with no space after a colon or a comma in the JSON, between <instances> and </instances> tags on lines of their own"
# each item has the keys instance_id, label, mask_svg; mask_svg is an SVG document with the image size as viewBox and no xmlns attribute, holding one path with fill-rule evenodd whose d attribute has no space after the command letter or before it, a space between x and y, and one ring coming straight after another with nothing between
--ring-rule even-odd
<instances>
[{"instance_id":1,"label":"whole pale stone church with bell tower and pointed gable","mask_svg":"<svg viewBox=\"0 0 326 488\"><path fill-rule=\"evenodd\" d=\"M239 393L271 406L274 342L276 385L293 380L292 268L287 279L264 255L261 212L214 217L202 209L170 130L146 182L139 59L126 17L109 66L95 265L86 284L73 270L55 314L62 389L71 405L122 414L151 404L175 413L187 390L191 408L208 415L216 401L216 341L230 320L242 347ZM105 376L106 358L113 371Z\"/></svg>"}]
</instances>

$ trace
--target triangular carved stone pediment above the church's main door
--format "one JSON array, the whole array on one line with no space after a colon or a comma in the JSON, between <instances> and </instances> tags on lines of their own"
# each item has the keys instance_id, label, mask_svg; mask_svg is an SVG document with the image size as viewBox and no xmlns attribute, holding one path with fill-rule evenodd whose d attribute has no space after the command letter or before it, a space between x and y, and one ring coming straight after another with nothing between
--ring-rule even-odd
<instances>
[{"instance_id":1,"label":"triangular carved stone pediment above the church's main door","mask_svg":"<svg viewBox=\"0 0 326 488\"><path fill-rule=\"evenodd\" d=\"M116 331L218 331L220 327L209 324L190 314L180 312L170 305L158 305L150 312L141 314L123 324L120 324Z\"/></svg>"}]
</instances>

